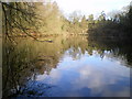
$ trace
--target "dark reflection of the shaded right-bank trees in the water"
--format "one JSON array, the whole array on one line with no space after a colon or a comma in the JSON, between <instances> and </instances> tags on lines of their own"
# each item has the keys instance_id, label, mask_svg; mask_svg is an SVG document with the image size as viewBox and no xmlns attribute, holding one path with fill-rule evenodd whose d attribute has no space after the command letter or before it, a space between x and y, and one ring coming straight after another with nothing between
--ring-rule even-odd
<instances>
[{"instance_id":1,"label":"dark reflection of the shaded right-bank trees in the water","mask_svg":"<svg viewBox=\"0 0 132 99\"><path fill-rule=\"evenodd\" d=\"M100 57L103 58L109 52L107 57L116 57L121 59L125 65L132 66L132 46L129 41L108 40L102 37L89 37L89 46L95 46L94 50L98 51ZM107 52L107 53L106 53Z\"/></svg>"}]
</instances>

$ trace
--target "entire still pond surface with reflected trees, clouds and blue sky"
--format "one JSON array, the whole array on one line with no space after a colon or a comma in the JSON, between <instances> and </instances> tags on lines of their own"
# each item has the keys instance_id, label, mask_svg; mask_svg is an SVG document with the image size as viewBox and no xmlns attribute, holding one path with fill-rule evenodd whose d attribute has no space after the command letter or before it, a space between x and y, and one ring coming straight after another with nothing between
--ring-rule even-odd
<instances>
[{"instance_id":1,"label":"entire still pond surface with reflected trees, clouds and blue sky","mask_svg":"<svg viewBox=\"0 0 132 99\"><path fill-rule=\"evenodd\" d=\"M3 46L3 96L130 97L131 45L87 36L48 40Z\"/></svg>"}]
</instances>

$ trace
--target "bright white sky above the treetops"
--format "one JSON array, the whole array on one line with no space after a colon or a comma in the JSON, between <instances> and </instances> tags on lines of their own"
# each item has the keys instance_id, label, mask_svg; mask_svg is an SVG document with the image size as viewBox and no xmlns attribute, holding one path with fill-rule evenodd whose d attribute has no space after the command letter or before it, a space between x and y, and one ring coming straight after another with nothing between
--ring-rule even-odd
<instances>
[{"instance_id":1,"label":"bright white sky above the treetops","mask_svg":"<svg viewBox=\"0 0 132 99\"><path fill-rule=\"evenodd\" d=\"M109 13L111 11L121 10L123 7L129 6L132 0L52 0L56 1L61 11L68 15L74 11L81 14L98 15L102 11Z\"/></svg>"}]
</instances>

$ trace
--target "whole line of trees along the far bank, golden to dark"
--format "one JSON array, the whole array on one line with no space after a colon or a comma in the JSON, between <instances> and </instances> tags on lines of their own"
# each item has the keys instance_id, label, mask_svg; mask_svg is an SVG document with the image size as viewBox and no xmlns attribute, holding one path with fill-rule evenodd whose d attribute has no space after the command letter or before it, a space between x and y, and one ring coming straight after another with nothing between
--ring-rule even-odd
<instances>
[{"instance_id":1,"label":"whole line of trees along the far bank, golden to dark","mask_svg":"<svg viewBox=\"0 0 132 99\"><path fill-rule=\"evenodd\" d=\"M98 19L73 12L66 18L56 2L0 2L2 29L6 38L28 35L33 38L45 34L79 34L89 36L131 36L132 4L124 12L107 19L102 11ZM12 37L13 37L12 36Z\"/></svg>"}]
</instances>

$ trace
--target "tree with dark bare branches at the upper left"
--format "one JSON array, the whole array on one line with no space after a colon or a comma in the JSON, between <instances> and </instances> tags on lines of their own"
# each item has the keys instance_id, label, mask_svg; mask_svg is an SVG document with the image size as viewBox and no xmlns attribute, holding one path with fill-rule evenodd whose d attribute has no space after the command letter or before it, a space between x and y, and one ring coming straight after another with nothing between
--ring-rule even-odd
<instances>
[{"instance_id":1,"label":"tree with dark bare branches at the upper left","mask_svg":"<svg viewBox=\"0 0 132 99\"><path fill-rule=\"evenodd\" d=\"M13 40L12 35L25 34L36 31L36 14L34 2L0 2L2 4L3 36ZM36 32L35 32L36 33Z\"/></svg>"}]
</instances>

